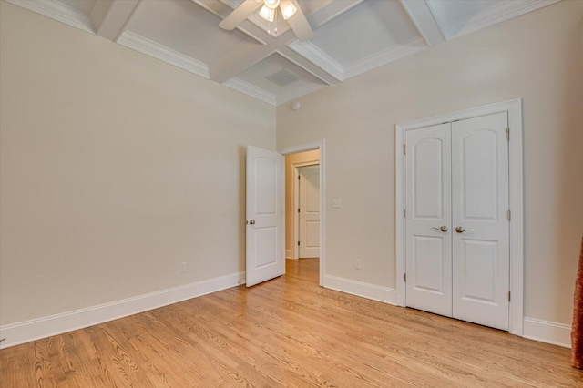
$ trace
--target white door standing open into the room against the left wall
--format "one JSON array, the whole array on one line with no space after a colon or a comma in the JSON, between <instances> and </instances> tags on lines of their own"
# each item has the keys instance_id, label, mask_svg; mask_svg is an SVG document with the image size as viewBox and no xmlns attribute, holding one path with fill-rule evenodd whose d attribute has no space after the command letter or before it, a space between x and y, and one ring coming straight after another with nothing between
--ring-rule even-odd
<instances>
[{"instance_id":1,"label":"white door standing open into the room against the left wall","mask_svg":"<svg viewBox=\"0 0 583 388\"><path fill-rule=\"evenodd\" d=\"M285 273L283 156L247 147L246 284Z\"/></svg>"}]
</instances>

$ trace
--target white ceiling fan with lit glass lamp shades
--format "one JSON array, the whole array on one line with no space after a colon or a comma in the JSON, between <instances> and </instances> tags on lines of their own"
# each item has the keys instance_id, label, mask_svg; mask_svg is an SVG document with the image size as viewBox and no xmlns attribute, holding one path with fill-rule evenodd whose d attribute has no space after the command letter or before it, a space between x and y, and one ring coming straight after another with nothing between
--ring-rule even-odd
<instances>
[{"instance_id":1,"label":"white ceiling fan with lit glass lamp shades","mask_svg":"<svg viewBox=\"0 0 583 388\"><path fill-rule=\"evenodd\" d=\"M292 27L295 36L305 41L313 36L312 27L303 15L302 8L293 0L245 0L219 24L221 28L232 30L261 7L259 15L268 22L277 20L278 8L284 20Z\"/></svg>"}]
</instances>

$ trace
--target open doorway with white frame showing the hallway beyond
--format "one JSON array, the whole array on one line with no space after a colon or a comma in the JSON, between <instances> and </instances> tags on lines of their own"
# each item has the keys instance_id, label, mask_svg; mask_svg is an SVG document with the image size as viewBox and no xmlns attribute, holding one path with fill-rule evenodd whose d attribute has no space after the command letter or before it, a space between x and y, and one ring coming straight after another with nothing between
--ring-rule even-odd
<instances>
[{"instance_id":1,"label":"open doorway with white frame showing the hallway beyond","mask_svg":"<svg viewBox=\"0 0 583 388\"><path fill-rule=\"evenodd\" d=\"M281 150L285 157L286 271L301 268L298 260L311 260L311 266L317 267L317 279L322 287L325 271L323 147L322 140Z\"/></svg>"}]
</instances>

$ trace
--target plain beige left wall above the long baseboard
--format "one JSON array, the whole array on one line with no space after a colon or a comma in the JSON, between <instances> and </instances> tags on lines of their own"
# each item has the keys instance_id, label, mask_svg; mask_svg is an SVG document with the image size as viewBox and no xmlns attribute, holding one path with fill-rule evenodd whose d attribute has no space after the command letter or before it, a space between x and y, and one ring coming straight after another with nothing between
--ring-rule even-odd
<instances>
[{"instance_id":1,"label":"plain beige left wall above the long baseboard","mask_svg":"<svg viewBox=\"0 0 583 388\"><path fill-rule=\"evenodd\" d=\"M275 148L274 108L0 7L0 324L244 271L244 146Z\"/></svg>"}]
</instances>

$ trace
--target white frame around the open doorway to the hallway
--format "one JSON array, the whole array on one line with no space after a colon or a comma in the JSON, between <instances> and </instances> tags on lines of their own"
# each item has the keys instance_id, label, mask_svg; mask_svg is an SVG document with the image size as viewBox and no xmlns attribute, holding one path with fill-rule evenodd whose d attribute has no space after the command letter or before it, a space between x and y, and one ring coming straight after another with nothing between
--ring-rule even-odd
<instances>
[{"instance_id":1,"label":"white frame around the open doorway to the hallway","mask_svg":"<svg viewBox=\"0 0 583 388\"><path fill-rule=\"evenodd\" d=\"M326 278L326 169L325 167L325 141L317 140L297 146L286 147L279 150L282 155L298 154L301 152L320 150L320 286L325 287Z\"/></svg>"}]
</instances>

